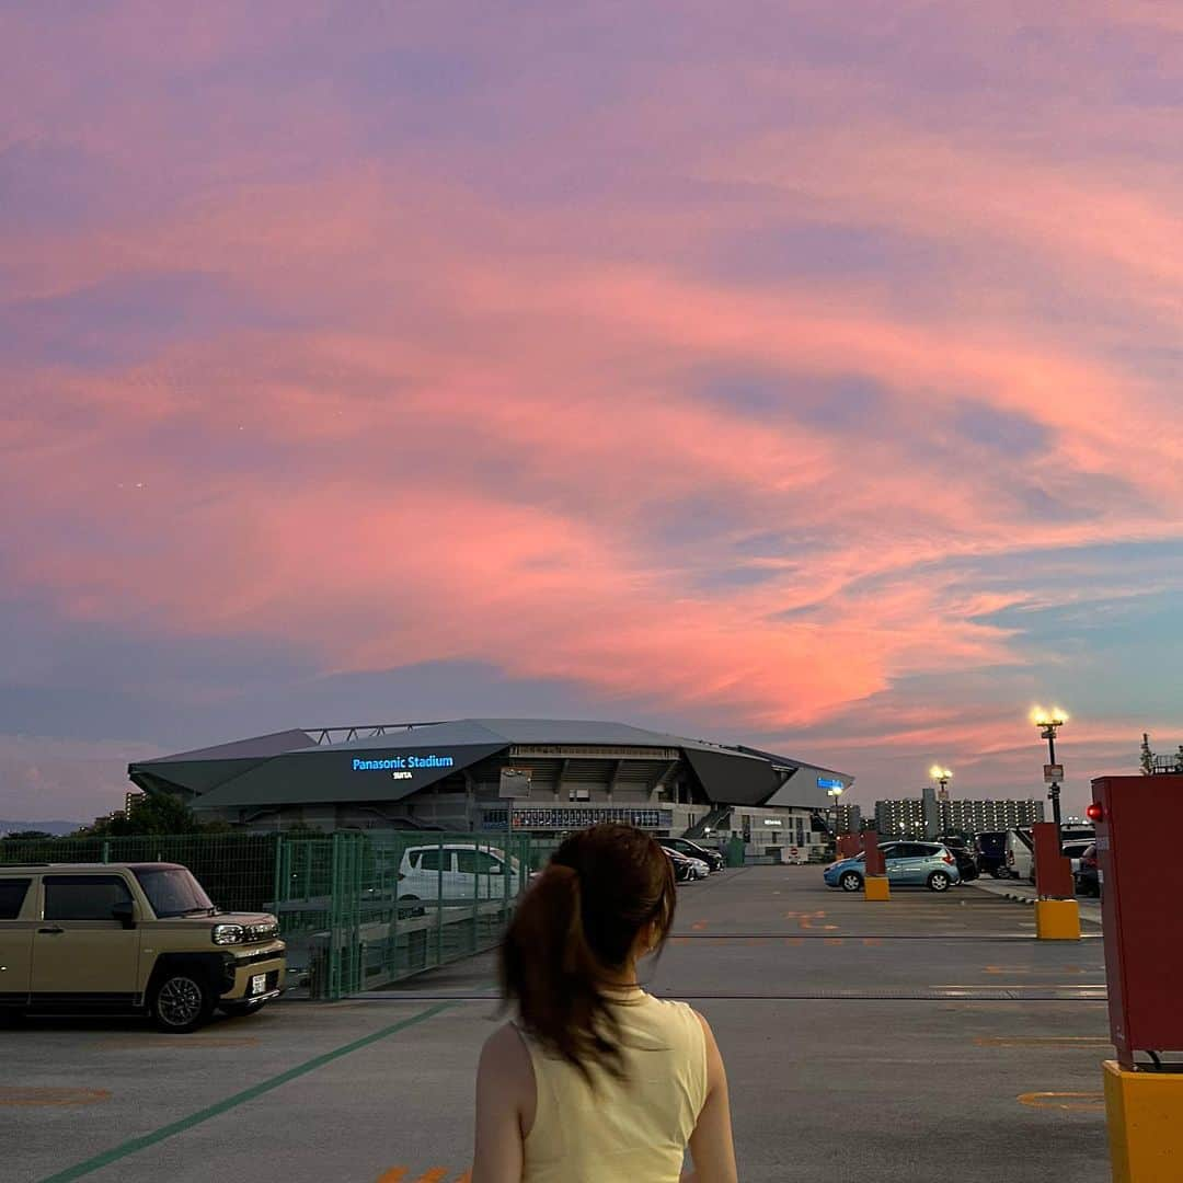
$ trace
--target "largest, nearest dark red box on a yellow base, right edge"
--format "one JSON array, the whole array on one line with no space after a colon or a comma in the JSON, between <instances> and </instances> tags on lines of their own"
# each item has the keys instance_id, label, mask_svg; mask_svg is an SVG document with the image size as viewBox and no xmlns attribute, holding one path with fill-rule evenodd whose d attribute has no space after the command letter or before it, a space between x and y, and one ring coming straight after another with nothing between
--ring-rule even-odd
<instances>
[{"instance_id":1,"label":"largest, nearest dark red box on a yellow base, right edge","mask_svg":"<svg viewBox=\"0 0 1183 1183\"><path fill-rule=\"evenodd\" d=\"M1179 776L1093 781L1110 1030L1127 1069L1134 1052L1183 1051L1178 865L1159 840L1181 793Z\"/></svg>"}]
</instances>

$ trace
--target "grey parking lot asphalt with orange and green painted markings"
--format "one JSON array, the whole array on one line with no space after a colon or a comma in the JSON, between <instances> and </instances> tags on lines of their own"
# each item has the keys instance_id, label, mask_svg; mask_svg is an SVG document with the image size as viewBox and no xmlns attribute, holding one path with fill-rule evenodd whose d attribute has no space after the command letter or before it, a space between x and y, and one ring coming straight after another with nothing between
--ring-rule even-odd
<instances>
[{"instance_id":1,"label":"grey parking lot asphalt with orange and green painted markings","mask_svg":"<svg viewBox=\"0 0 1183 1183\"><path fill-rule=\"evenodd\" d=\"M742 1179L1108 1178L1094 925L1036 942L1029 907L972 886L877 904L817 867L689 884L678 912L646 977L716 1030ZM190 1036L110 1020L0 1032L0 1178L463 1179L492 965Z\"/></svg>"}]
</instances>

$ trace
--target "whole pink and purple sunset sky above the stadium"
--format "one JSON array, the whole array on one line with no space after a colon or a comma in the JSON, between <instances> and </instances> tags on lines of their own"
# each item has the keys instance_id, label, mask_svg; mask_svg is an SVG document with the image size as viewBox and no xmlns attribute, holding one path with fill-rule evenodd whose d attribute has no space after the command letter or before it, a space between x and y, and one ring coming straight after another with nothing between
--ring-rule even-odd
<instances>
[{"instance_id":1,"label":"whole pink and purple sunset sky above the stadium","mask_svg":"<svg viewBox=\"0 0 1183 1183\"><path fill-rule=\"evenodd\" d=\"M186 9L188 18L181 15ZM1183 6L0 5L0 817L608 718L1183 741Z\"/></svg>"}]
</instances>

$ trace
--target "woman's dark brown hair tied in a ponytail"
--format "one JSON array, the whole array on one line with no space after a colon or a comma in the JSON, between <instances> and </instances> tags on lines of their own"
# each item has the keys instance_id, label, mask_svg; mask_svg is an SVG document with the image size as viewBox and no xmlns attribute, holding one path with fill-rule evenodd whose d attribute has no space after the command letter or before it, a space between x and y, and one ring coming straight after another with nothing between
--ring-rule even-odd
<instances>
[{"instance_id":1,"label":"woman's dark brown hair tied in a ponytail","mask_svg":"<svg viewBox=\"0 0 1183 1183\"><path fill-rule=\"evenodd\" d=\"M590 1062L619 1077L609 978L645 925L665 944L674 904L673 867L644 830L603 825L565 839L502 942L502 994L523 1028L589 1080Z\"/></svg>"}]
</instances>

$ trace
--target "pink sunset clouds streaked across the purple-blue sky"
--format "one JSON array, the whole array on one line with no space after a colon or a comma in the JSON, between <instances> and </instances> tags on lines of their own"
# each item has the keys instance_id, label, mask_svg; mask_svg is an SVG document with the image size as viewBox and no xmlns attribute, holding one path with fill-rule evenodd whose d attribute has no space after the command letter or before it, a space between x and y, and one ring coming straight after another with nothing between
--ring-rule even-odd
<instances>
[{"instance_id":1,"label":"pink sunset clouds streaked across the purple-blue sky","mask_svg":"<svg viewBox=\"0 0 1183 1183\"><path fill-rule=\"evenodd\" d=\"M856 32L820 11L804 6ZM964 15L970 40L1016 32ZM164 332L131 308L96 330L90 363L69 318L50 356L0 347L8 596L96 629L286 641L324 671L480 660L767 730L825 726L910 677L1054 668L1016 612L1178 588L1169 568L1049 576L1034 557L1183 537L1183 408L1163 376L1183 226L1178 179L1146 149L1166 142L1157 118L1130 156L1051 106L1016 138L957 86L920 121L884 103L906 77L777 70L749 31L718 62L654 56L652 93L588 103L573 125L543 110L534 138L384 141L340 78L241 72L273 65L264 25L292 69L324 33L270 19L116 6L62 52L135 62L123 85L27 66L9 84L24 101L0 148L102 160L129 201L0 221L0 311L40 325L161 274L245 311ZM7 20L34 60L44 31ZM351 63L368 38L438 51L446 32L425 17L334 45ZM716 88L736 77L759 117L732 127ZM529 70L505 85L506 110L544 106ZM1114 135L1139 122L1120 104L1101 117ZM610 192L581 189L576 140L621 154ZM173 188L135 203L153 172ZM925 251L878 274L790 260L761 282L719 263L787 225ZM704 396L718 374L772 393ZM851 380L874 389L874 421L803 413L806 392L841 403ZM1027 425L1033 450L968 439L968 405ZM909 705L873 742L919 749L945 718ZM1002 767L1008 728L982 710L959 735Z\"/></svg>"}]
</instances>

